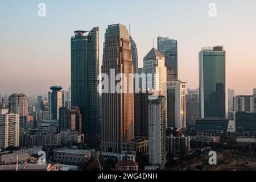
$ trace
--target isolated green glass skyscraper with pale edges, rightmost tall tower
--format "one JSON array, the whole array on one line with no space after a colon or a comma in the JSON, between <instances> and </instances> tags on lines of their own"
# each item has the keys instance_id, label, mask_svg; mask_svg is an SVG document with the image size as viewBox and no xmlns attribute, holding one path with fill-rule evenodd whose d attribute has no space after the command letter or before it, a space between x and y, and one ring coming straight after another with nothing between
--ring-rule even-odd
<instances>
[{"instance_id":1,"label":"isolated green glass skyscraper with pale edges, rightmost tall tower","mask_svg":"<svg viewBox=\"0 0 256 182\"><path fill-rule=\"evenodd\" d=\"M224 47L202 48L199 53L199 68L201 118L228 118Z\"/></svg>"}]
</instances>

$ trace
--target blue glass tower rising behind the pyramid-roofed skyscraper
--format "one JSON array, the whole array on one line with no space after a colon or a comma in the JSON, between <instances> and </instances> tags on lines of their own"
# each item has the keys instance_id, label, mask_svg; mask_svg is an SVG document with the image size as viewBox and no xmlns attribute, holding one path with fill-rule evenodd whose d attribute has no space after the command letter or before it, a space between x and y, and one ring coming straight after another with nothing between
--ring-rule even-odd
<instances>
[{"instance_id":1,"label":"blue glass tower rising behind the pyramid-roofed skyscraper","mask_svg":"<svg viewBox=\"0 0 256 182\"><path fill-rule=\"evenodd\" d=\"M167 81L177 81L177 40L158 37L158 51L165 57Z\"/></svg>"}]
</instances>

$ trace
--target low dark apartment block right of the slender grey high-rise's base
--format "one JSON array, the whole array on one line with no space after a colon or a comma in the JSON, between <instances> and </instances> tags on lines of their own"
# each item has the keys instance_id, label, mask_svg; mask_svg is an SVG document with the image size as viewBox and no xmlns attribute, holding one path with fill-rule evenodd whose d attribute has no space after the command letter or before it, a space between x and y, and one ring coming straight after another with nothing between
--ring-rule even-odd
<instances>
[{"instance_id":1,"label":"low dark apartment block right of the slender grey high-rise's base","mask_svg":"<svg viewBox=\"0 0 256 182\"><path fill-rule=\"evenodd\" d=\"M181 136L167 136L167 153L168 155L188 155L190 151L190 138Z\"/></svg>"}]
</instances>

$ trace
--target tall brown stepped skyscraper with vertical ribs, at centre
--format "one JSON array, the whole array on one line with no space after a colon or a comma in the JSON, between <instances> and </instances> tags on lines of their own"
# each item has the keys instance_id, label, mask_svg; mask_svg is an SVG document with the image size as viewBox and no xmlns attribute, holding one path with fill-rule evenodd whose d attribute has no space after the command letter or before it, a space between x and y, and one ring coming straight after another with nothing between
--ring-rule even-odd
<instances>
[{"instance_id":1,"label":"tall brown stepped skyscraper with vertical ribs, at centre","mask_svg":"<svg viewBox=\"0 0 256 182\"><path fill-rule=\"evenodd\" d=\"M127 90L133 86L133 79L128 79L134 70L130 37L122 24L109 25L105 33L102 73L110 77L111 69L114 77L119 73L126 75ZM115 81L114 85L118 82ZM108 84L112 88L112 84ZM121 152L122 143L133 139L133 93L102 93L102 151Z\"/></svg>"}]
</instances>

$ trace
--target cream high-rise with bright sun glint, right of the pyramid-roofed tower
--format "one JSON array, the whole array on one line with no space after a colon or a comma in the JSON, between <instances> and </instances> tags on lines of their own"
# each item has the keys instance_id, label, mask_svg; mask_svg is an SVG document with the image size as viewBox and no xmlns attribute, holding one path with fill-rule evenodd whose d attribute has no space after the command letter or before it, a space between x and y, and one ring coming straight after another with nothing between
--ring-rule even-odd
<instances>
[{"instance_id":1,"label":"cream high-rise with bright sun glint, right of the pyramid-roofed tower","mask_svg":"<svg viewBox=\"0 0 256 182\"><path fill-rule=\"evenodd\" d=\"M186 96L184 81L167 82L168 126L185 128Z\"/></svg>"}]
</instances>

